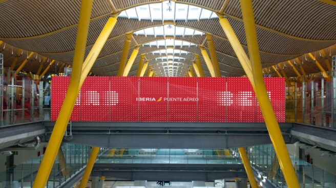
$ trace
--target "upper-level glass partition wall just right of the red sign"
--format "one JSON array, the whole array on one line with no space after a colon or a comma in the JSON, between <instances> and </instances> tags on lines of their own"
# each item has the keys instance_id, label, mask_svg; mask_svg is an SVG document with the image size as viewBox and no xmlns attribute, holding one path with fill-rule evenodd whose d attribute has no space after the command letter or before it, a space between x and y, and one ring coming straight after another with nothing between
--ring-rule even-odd
<instances>
[{"instance_id":1,"label":"upper-level glass partition wall just right of the red sign","mask_svg":"<svg viewBox=\"0 0 336 188\"><path fill-rule=\"evenodd\" d=\"M322 76L298 77L286 86L286 122L336 128L336 79Z\"/></svg>"}]
</instances>

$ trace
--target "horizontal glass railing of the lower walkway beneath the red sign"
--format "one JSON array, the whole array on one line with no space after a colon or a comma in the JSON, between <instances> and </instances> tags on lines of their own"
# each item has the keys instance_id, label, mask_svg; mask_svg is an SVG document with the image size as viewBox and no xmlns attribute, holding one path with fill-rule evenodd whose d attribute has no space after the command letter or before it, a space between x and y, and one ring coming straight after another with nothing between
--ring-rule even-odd
<instances>
[{"instance_id":1,"label":"horizontal glass railing of the lower walkway beneath the red sign","mask_svg":"<svg viewBox=\"0 0 336 188\"><path fill-rule=\"evenodd\" d=\"M122 153L122 154L121 154ZM196 149L111 149L99 155L97 163L162 163L162 164L241 164L234 151L229 155L219 150Z\"/></svg>"}]
</instances>

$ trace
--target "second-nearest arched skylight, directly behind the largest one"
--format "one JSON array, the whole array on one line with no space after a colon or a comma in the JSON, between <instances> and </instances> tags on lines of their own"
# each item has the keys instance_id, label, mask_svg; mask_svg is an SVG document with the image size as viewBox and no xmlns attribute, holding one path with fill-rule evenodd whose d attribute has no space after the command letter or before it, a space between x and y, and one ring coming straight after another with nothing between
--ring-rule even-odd
<instances>
[{"instance_id":1,"label":"second-nearest arched skylight, directly behind the largest one","mask_svg":"<svg viewBox=\"0 0 336 188\"><path fill-rule=\"evenodd\" d=\"M196 36L196 35L204 35L203 32L179 27L174 25L164 25L164 26L156 26L152 28L146 28L139 31L134 32L135 35L145 35L145 36Z\"/></svg>"}]
</instances>

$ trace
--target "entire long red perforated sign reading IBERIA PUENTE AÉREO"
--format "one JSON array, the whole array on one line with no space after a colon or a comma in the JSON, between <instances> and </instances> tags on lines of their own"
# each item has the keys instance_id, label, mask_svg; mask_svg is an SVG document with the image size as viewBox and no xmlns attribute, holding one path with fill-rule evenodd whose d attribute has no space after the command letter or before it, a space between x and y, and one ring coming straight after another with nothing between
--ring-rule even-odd
<instances>
[{"instance_id":1,"label":"entire long red perforated sign reading IBERIA PUENTE A\u00c9REO","mask_svg":"<svg viewBox=\"0 0 336 188\"><path fill-rule=\"evenodd\" d=\"M52 121L56 121L69 77L53 77ZM265 78L279 122L285 122L285 80ZM88 77L71 121L87 122L263 122L247 78Z\"/></svg>"}]
</instances>

